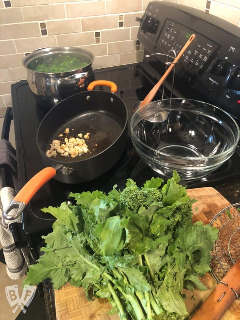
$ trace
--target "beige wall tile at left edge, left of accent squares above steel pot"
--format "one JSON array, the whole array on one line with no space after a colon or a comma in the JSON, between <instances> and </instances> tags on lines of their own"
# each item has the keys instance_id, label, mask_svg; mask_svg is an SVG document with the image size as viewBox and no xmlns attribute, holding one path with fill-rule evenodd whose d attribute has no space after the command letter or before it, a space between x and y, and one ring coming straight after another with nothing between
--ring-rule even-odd
<instances>
[{"instance_id":1,"label":"beige wall tile at left edge, left of accent squares above steel pot","mask_svg":"<svg viewBox=\"0 0 240 320\"><path fill-rule=\"evenodd\" d=\"M40 36L38 22L0 26L0 40Z\"/></svg>"}]
</instances>

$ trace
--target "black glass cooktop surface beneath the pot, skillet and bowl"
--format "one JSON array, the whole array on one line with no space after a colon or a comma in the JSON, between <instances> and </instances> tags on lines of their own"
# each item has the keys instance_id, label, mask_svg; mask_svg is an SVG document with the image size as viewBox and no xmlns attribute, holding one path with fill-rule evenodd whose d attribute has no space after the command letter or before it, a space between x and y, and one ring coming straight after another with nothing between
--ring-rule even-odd
<instances>
[{"instance_id":1,"label":"black glass cooktop surface beneath the pot, skillet and bowl","mask_svg":"<svg viewBox=\"0 0 240 320\"><path fill-rule=\"evenodd\" d=\"M152 84L139 70L141 70L139 64L95 70L96 80L111 80L117 84L118 91L116 94L123 99L128 108L127 147L117 164L103 176L93 181L69 185L52 179L46 183L36 193L23 212L23 231L30 243L36 244L40 241L40 236L50 231L54 221L51 215L41 212L40 209L49 205L58 206L63 201L71 201L71 198L68 197L70 192L93 191L96 189L108 192L114 184L117 184L120 189L124 188L126 179L129 177L141 185L145 180L158 176L156 172L140 160L130 139L129 125L133 115L133 104L143 100L152 87ZM36 145L36 132L49 109L36 105L26 80L12 84L11 89L19 184L21 188L38 171L43 169ZM99 90L108 89L99 87ZM159 92L155 100L160 99L161 93ZM239 161L240 152L237 149L235 154L217 171L202 179L181 181L181 183L188 188L197 188L214 187L236 180L240 178Z\"/></svg>"}]
</instances>

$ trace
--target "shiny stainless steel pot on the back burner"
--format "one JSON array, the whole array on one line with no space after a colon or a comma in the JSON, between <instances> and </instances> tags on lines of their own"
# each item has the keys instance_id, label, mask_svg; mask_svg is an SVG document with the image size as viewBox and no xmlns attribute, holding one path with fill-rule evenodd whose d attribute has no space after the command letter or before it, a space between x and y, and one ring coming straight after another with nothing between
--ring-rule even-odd
<instances>
[{"instance_id":1,"label":"shiny stainless steel pot on the back burner","mask_svg":"<svg viewBox=\"0 0 240 320\"><path fill-rule=\"evenodd\" d=\"M75 57L87 65L81 69L61 73L44 73L34 69L42 63L50 63L55 57L64 55ZM76 47L41 48L28 54L22 65L27 69L27 82L37 103L52 108L61 100L82 91L87 91L89 83L95 80L91 67L94 55Z\"/></svg>"}]
</instances>

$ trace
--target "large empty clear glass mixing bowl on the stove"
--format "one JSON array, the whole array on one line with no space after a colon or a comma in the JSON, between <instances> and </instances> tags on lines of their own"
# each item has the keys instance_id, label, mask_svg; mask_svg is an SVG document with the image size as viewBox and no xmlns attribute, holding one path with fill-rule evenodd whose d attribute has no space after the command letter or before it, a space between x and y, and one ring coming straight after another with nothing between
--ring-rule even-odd
<instances>
[{"instance_id":1,"label":"large empty clear glass mixing bowl on the stove","mask_svg":"<svg viewBox=\"0 0 240 320\"><path fill-rule=\"evenodd\" d=\"M182 179L203 177L234 153L240 131L227 112L197 100L166 99L138 109L131 118L131 138L139 156L153 170Z\"/></svg>"}]
</instances>

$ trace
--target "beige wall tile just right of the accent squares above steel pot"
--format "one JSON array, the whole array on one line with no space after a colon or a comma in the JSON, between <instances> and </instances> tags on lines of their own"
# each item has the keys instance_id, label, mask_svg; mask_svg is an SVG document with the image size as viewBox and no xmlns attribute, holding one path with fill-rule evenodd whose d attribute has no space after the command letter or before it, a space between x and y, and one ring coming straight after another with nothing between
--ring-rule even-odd
<instances>
[{"instance_id":1,"label":"beige wall tile just right of the accent squares above steel pot","mask_svg":"<svg viewBox=\"0 0 240 320\"><path fill-rule=\"evenodd\" d=\"M47 21L49 35L61 35L81 31L80 19Z\"/></svg>"}]
</instances>

